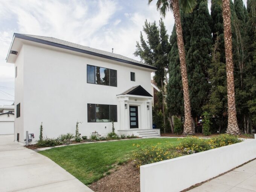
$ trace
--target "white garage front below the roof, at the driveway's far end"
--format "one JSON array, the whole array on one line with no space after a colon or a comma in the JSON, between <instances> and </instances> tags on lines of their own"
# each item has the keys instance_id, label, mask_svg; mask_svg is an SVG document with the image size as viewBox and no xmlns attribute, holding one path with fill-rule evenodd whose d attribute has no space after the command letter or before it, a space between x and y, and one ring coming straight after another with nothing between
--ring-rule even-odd
<instances>
[{"instance_id":1,"label":"white garage front below the roof, at the driveway's far end","mask_svg":"<svg viewBox=\"0 0 256 192\"><path fill-rule=\"evenodd\" d=\"M2 134L14 134L14 115L0 115L0 135Z\"/></svg>"}]
</instances>

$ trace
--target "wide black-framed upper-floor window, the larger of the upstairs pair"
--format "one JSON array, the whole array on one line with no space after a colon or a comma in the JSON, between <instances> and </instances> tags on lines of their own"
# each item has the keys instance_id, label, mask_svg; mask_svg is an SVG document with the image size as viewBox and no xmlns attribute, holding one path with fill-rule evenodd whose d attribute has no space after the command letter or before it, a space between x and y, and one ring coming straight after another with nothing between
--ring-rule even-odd
<instances>
[{"instance_id":1,"label":"wide black-framed upper-floor window, the larger of the upstairs pair","mask_svg":"<svg viewBox=\"0 0 256 192\"><path fill-rule=\"evenodd\" d=\"M87 83L117 87L117 71L87 65Z\"/></svg>"}]
</instances>

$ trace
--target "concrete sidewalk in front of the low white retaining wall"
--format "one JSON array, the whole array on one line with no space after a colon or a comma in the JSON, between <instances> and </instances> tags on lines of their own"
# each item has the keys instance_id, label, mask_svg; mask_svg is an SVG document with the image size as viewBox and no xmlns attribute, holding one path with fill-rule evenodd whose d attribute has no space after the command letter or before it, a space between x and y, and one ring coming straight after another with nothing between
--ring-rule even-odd
<instances>
[{"instance_id":1,"label":"concrete sidewalk in front of the low white retaining wall","mask_svg":"<svg viewBox=\"0 0 256 192\"><path fill-rule=\"evenodd\" d=\"M256 160L189 190L189 192L254 192Z\"/></svg>"}]
</instances>

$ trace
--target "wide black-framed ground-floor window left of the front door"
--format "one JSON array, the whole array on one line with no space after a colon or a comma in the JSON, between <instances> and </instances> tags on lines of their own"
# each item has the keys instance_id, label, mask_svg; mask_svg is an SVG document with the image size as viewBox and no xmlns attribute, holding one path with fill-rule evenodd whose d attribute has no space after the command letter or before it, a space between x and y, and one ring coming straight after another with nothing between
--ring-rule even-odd
<instances>
[{"instance_id":1,"label":"wide black-framed ground-floor window left of the front door","mask_svg":"<svg viewBox=\"0 0 256 192\"><path fill-rule=\"evenodd\" d=\"M87 104L88 122L117 122L117 105Z\"/></svg>"}]
</instances>

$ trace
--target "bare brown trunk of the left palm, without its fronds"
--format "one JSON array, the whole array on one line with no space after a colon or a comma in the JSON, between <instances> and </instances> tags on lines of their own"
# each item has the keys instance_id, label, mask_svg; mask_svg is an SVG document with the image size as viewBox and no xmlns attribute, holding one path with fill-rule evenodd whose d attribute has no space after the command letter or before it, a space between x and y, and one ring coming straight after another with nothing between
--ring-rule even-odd
<instances>
[{"instance_id":1,"label":"bare brown trunk of the left palm, without its fronds","mask_svg":"<svg viewBox=\"0 0 256 192\"><path fill-rule=\"evenodd\" d=\"M181 19L180 19L180 6L179 0L172 0L172 9L175 20L175 29L177 34L177 45L180 56L180 73L182 79L182 87L183 87L183 99L184 99L184 132L183 134L194 134L194 129L192 126L192 117L191 117L191 108L190 108L190 99L189 99L189 86L187 80L187 67L186 67L186 57L185 57L185 49L183 42L183 34L181 27Z\"/></svg>"}]
</instances>

